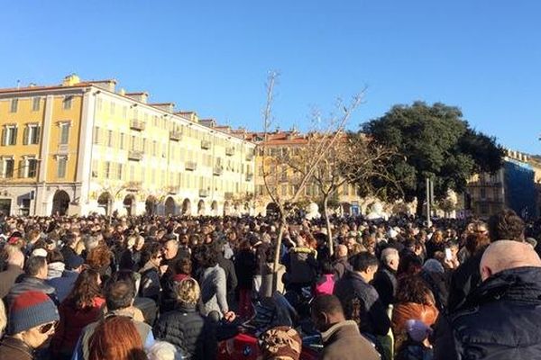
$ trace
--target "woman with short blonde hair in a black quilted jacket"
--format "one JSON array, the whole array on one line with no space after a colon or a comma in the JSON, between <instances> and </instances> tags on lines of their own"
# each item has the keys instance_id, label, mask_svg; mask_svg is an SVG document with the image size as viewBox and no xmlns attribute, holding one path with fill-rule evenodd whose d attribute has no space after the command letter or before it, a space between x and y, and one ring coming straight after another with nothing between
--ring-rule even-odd
<instances>
[{"instance_id":1,"label":"woman with short blonde hair in a black quilted jacket","mask_svg":"<svg viewBox=\"0 0 541 360\"><path fill-rule=\"evenodd\" d=\"M176 292L177 307L160 317L154 336L170 342L194 360L215 359L215 328L197 311L201 296L199 284L191 277L185 278L177 285Z\"/></svg>"}]
</instances>

